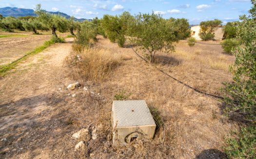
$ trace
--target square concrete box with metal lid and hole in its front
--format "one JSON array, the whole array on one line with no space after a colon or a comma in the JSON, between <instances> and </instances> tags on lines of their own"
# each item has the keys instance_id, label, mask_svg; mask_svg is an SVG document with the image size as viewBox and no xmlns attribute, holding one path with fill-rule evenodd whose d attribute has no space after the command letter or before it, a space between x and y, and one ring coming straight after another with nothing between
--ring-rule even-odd
<instances>
[{"instance_id":1,"label":"square concrete box with metal lid and hole in its front","mask_svg":"<svg viewBox=\"0 0 256 159\"><path fill-rule=\"evenodd\" d=\"M111 114L113 144L126 145L134 139L153 139L156 124L144 100L113 101Z\"/></svg>"}]
</instances>

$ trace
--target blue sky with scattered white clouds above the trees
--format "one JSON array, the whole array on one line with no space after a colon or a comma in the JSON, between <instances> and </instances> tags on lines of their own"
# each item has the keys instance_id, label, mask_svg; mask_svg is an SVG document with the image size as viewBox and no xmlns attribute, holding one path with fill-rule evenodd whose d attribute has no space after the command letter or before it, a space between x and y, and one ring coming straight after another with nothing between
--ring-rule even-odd
<instances>
[{"instance_id":1,"label":"blue sky with scattered white clouds above the trees","mask_svg":"<svg viewBox=\"0 0 256 159\"><path fill-rule=\"evenodd\" d=\"M164 18L187 18L190 24L218 18L225 24L247 14L250 0L0 0L1 7L34 9L40 3L47 11L59 11L77 18L119 15L129 11L132 15L160 13Z\"/></svg>"}]
</instances>

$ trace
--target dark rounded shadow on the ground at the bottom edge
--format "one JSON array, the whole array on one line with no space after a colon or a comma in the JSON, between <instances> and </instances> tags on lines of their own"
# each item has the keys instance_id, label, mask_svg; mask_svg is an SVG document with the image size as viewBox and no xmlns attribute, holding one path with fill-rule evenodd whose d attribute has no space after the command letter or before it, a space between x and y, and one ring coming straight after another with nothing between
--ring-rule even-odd
<instances>
[{"instance_id":1,"label":"dark rounded shadow on the ground at the bottom edge","mask_svg":"<svg viewBox=\"0 0 256 159\"><path fill-rule=\"evenodd\" d=\"M203 150L196 159L228 159L227 155L217 149Z\"/></svg>"}]
</instances>

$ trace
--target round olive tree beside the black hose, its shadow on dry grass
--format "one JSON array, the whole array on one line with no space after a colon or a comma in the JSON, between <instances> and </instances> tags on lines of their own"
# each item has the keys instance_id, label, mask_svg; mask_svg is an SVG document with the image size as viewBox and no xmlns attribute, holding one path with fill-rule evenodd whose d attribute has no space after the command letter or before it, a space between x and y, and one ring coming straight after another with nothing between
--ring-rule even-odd
<instances>
[{"instance_id":1,"label":"round olive tree beside the black hose, its shadow on dry grass","mask_svg":"<svg viewBox=\"0 0 256 159\"><path fill-rule=\"evenodd\" d=\"M160 51L174 51L173 42L178 41L175 23L160 15L138 14L129 27L131 43L144 52L149 62L154 62L155 54Z\"/></svg>"}]
</instances>

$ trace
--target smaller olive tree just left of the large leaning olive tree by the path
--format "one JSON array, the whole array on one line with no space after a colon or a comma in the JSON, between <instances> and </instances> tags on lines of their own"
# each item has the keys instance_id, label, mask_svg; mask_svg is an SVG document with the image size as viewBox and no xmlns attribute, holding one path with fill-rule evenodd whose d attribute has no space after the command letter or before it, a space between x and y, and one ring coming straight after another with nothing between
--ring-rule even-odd
<instances>
[{"instance_id":1,"label":"smaller olive tree just left of the large leaning olive tree by the path","mask_svg":"<svg viewBox=\"0 0 256 159\"><path fill-rule=\"evenodd\" d=\"M39 34L37 30L42 29L42 24L38 18L29 18L28 20L21 20L21 22L26 31L33 31L34 34Z\"/></svg>"}]
</instances>

